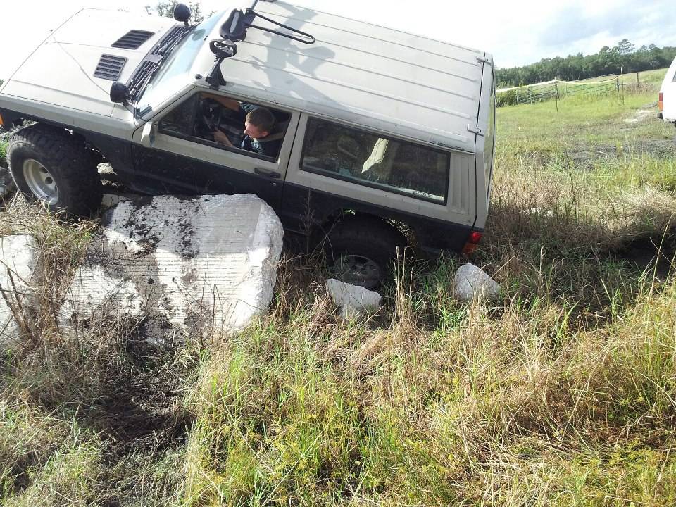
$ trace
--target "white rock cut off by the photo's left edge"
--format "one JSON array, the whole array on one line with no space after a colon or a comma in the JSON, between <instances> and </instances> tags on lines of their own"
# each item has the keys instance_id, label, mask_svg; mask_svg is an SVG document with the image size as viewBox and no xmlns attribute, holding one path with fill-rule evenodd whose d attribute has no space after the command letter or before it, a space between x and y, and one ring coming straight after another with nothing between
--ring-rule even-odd
<instances>
[{"instance_id":1,"label":"white rock cut off by the photo's left edge","mask_svg":"<svg viewBox=\"0 0 676 507\"><path fill-rule=\"evenodd\" d=\"M31 280L37 270L38 251L35 239L27 234L0 238L0 349L20 343L14 313L28 308L32 301ZM23 316L22 316L23 318Z\"/></svg>"}]
</instances>

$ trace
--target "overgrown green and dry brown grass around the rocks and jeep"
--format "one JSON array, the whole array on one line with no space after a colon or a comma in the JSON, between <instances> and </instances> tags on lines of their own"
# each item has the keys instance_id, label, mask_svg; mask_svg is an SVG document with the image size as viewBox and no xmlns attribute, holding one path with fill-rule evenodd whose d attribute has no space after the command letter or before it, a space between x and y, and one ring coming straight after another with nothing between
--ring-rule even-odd
<instances>
[{"instance_id":1,"label":"overgrown green and dry brown grass around the rocks and jeep","mask_svg":"<svg viewBox=\"0 0 676 507\"><path fill-rule=\"evenodd\" d=\"M442 258L343 323L288 259L269 318L227 342L66 339L49 294L95 224L15 202L0 229L35 232L49 284L0 363L0 503L676 505L676 129L655 101L499 109L470 258L499 303L454 301L463 260Z\"/></svg>"}]
</instances>

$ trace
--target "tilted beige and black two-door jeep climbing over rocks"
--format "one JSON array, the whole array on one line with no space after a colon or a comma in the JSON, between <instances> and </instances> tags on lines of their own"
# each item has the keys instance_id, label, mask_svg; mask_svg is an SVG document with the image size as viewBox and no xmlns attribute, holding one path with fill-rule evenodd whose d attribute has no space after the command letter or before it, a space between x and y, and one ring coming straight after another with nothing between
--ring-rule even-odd
<instances>
[{"instance_id":1,"label":"tilted beige and black two-door jeep climbing over rocks","mask_svg":"<svg viewBox=\"0 0 676 507\"><path fill-rule=\"evenodd\" d=\"M282 1L175 18L84 9L7 80L0 123L35 122L8 149L24 194L95 211L101 161L138 192L257 194L367 287L397 247L476 246L492 56ZM256 108L264 137L244 134Z\"/></svg>"}]
</instances>

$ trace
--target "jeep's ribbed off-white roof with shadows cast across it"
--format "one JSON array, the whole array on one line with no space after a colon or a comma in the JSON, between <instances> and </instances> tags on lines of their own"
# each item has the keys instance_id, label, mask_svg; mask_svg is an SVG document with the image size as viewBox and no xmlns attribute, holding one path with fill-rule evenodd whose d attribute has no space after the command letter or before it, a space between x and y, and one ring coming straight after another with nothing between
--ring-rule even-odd
<instances>
[{"instance_id":1,"label":"jeep's ribbed off-white roof with shadows cast across it","mask_svg":"<svg viewBox=\"0 0 676 507\"><path fill-rule=\"evenodd\" d=\"M259 1L256 12L308 32L316 42L250 28L237 55L222 65L222 89L474 151L475 134L467 129L477 125L479 114L483 65L477 58L492 63L490 55L282 1ZM260 18L256 25L270 26ZM206 51L197 60L199 73L206 74L213 55ZM487 84L491 80L489 74Z\"/></svg>"}]
</instances>

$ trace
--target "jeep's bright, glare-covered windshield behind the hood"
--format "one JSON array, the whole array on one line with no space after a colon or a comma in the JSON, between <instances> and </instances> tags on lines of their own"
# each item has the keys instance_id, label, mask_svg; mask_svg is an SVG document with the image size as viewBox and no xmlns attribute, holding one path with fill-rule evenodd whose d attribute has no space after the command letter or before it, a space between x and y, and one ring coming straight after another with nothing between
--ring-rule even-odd
<instances>
[{"instance_id":1,"label":"jeep's bright, glare-covered windshield behind the hood","mask_svg":"<svg viewBox=\"0 0 676 507\"><path fill-rule=\"evenodd\" d=\"M220 20L220 15L221 13L214 14L208 20L196 25L187 37L171 51L139 99L138 111L157 106L184 86L185 75L189 73L195 57L204 45L204 39Z\"/></svg>"}]
</instances>

